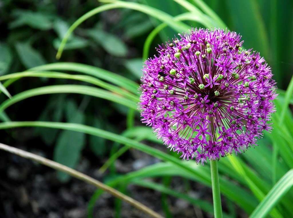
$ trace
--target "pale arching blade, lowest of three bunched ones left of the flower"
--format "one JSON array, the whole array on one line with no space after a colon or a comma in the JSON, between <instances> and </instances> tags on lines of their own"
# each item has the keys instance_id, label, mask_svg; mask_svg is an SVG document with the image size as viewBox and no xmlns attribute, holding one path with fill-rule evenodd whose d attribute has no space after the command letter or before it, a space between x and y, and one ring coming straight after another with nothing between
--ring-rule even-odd
<instances>
[{"instance_id":1,"label":"pale arching blade, lowest of three bunched ones left of the flower","mask_svg":"<svg viewBox=\"0 0 293 218\"><path fill-rule=\"evenodd\" d=\"M94 88L90 86L81 86L81 85L55 85L55 86L44 86L40 88L30 89L21 93L16 94L11 99L7 99L0 104L0 113L5 110L10 105L17 103L18 101L24 100L38 95L53 94L53 93L77 93L90 95L98 98L104 98L122 105L125 105L129 108L136 109L137 104L127 98L123 98L117 94L105 91L103 89Z\"/></svg>"}]
</instances>

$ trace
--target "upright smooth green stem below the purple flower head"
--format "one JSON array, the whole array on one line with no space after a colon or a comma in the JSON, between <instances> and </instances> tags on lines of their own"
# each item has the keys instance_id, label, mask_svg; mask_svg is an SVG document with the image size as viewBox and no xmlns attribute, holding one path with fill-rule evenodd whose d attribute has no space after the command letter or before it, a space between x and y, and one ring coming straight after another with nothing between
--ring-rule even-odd
<instances>
[{"instance_id":1,"label":"upright smooth green stem below the purple flower head","mask_svg":"<svg viewBox=\"0 0 293 218\"><path fill-rule=\"evenodd\" d=\"M222 204L220 194L218 161L211 160L212 191L215 218L222 218Z\"/></svg>"}]
</instances>

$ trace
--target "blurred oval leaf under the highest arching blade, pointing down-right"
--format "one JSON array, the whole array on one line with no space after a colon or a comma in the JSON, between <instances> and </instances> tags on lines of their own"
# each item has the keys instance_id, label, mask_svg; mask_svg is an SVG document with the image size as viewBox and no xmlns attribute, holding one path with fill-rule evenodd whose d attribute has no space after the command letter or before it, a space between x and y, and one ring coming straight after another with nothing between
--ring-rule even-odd
<instances>
[{"instance_id":1,"label":"blurred oval leaf under the highest arching blade, pointing down-right","mask_svg":"<svg viewBox=\"0 0 293 218\"><path fill-rule=\"evenodd\" d=\"M127 55L127 46L117 36L97 29L87 30L86 33L110 55L117 57L125 57Z\"/></svg>"}]
</instances>

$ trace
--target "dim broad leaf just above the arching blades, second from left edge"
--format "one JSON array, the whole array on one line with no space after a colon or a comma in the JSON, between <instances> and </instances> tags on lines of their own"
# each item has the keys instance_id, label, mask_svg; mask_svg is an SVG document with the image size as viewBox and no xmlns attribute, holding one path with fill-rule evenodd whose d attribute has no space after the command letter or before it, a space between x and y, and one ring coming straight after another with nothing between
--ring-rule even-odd
<instances>
[{"instance_id":1,"label":"dim broad leaf just above the arching blades, second from left edge","mask_svg":"<svg viewBox=\"0 0 293 218\"><path fill-rule=\"evenodd\" d=\"M18 42L15 48L22 64L26 68L32 68L46 63L40 52L27 43Z\"/></svg>"}]
</instances>

